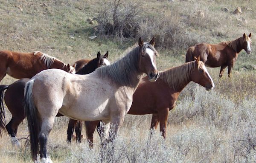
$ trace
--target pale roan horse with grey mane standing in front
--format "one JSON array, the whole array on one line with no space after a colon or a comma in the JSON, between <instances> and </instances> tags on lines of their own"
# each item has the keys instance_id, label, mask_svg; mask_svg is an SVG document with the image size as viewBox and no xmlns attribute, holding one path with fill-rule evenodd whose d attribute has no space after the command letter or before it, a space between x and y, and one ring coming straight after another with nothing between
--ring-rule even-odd
<instances>
[{"instance_id":1,"label":"pale roan horse with grey mane standing in front","mask_svg":"<svg viewBox=\"0 0 256 163\"><path fill-rule=\"evenodd\" d=\"M58 112L77 120L102 119L113 133L105 140L112 141L131 107L143 73L151 82L159 77L155 65L157 51L153 45L154 38L149 43L143 43L140 38L139 45L133 46L125 57L87 75L49 69L34 76L24 90L32 158L37 158L39 143L41 161L52 163L47 141ZM105 132L108 133L108 129Z\"/></svg>"}]
</instances>

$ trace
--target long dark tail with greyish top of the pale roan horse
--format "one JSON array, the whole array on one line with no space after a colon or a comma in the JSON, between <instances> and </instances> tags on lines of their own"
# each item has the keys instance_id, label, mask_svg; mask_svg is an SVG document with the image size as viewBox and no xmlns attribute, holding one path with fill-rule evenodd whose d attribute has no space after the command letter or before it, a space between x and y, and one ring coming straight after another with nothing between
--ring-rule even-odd
<instances>
[{"instance_id":1,"label":"long dark tail with greyish top of the pale roan horse","mask_svg":"<svg viewBox=\"0 0 256 163\"><path fill-rule=\"evenodd\" d=\"M39 135L40 129L39 129L39 122L38 122L38 111L37 111L37 108L35 107L33 94L32 94L32 87L34 82L35 82L35 79L32 79L32 80L29 80L29 82L27 82L25 85L24 109L25 109L25 115L27 117L28 127L29 127L31 155L32 155L32 158L36 160L37 154L39 151L38 135Z\"/></svg>"}]
</instances>

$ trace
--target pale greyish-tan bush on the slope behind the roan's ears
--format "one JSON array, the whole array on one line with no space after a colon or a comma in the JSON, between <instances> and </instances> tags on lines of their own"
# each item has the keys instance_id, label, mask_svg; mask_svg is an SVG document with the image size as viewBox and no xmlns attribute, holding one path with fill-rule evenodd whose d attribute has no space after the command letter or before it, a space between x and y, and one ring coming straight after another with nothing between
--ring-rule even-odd
<instances>
[{"instance_id":1,"label":"pale greyish-tan bush on the slope behind the roan's ears","mask_svg":"<svg viewBox=\"0 0 256 163\"><path fill-rule=\"evenodd\" d=\"M158 14L148 17L140 27L140 36L155 37L155 46L159 48L177 52L198 43L199 36L186 33L186 24L175 11L172 15Z\"/></svg>"}]
</instances>

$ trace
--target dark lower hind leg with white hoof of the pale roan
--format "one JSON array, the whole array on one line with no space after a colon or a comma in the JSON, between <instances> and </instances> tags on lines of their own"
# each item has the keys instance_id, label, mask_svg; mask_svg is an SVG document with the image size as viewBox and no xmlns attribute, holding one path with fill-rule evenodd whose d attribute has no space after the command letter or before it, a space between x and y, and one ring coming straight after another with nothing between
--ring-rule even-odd
<instances>
[{"instance_id":1,"label":"dark lower hind leg with white hoof of the pale roan","mask_svg":"<svg viewBox=\"0 0 256 163\"><path fill-rule=\"evenodd\" d=\"M52 160L47 153L47 141L49 137L49 132L52 130L53 127L54 117L45 118L44 121L42 121L41 131L38 135L40 144L40 157L42 163L52 163Z\"/></svg>"}]
</instances>

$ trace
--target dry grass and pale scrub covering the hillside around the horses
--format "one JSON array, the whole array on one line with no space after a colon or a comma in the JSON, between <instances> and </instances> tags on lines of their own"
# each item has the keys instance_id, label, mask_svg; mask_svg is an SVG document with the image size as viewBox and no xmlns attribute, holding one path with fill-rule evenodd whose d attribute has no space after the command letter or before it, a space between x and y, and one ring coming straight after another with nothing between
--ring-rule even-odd
<instances>
[{"instance_id":1,"label":"dry grass and pale scrub covering the hillside around the horses","mask_svg":"<svg viewBox=\"0 0 256 163\"><path fill-rule=\"evenodd\" d=\"M218 79L219 68L209 68L215 89L207 92L190 83L181 93L177 107L170 112L167 138L163 140L157 129L149 139L151 115L126 115L114 146L112 162L247 162L256 161L256 76L251 65L256 65L256 2L240 0L175 1L149 0L139 9L140 31L134 39L120 42L118 37L89 39L94 27L87 18L97 17L104 0L54 0L1 1L0 49L31 52L42 51L66 63L81 58L93 58L97 51L109 51L114 62L123 51L137 42L157 38L159 70L185 62L186 48L198 42L218 43L252 33L252 53L239 54L231 81L225 72ZM131 2L131 1L127 1ZM139 0L133 0L139 3ZM234 11L237 6L250 7L242 17L221 8ZM198 16L203 11L204 17ZM247 23L241 22L244 18ZM74 38L71 38L74 37ZM248 67L242 71L241 67ZM236 71L236 72L235 72ZM16 79L6 76L1 84L11 84ZM6 110L7 121L11 115ZM67 118L56 118L49 138L49 152L57 163L108 162L108 151L100 149L95 133L95 149L90 150L85 141L81 145L66 143ZM84 130L82 135L85 135ZM20 124L18 138L26 138L26 121ZM32 162L26 139L20 147L13 147L9 136L0 139L1 163ZM103 154L103 155L100 155Z\"/></svg>"}]
</instances>

